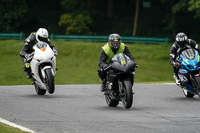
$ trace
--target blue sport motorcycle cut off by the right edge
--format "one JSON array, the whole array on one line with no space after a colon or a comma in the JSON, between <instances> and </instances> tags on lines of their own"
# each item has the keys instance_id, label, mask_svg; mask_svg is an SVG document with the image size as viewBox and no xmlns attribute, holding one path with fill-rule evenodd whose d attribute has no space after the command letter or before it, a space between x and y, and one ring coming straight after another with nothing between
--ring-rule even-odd
<instances>
[{"instance_id":1,"label":"blue sport motorcycle cut off by the right edge","mask_svg":"<svg viewBox=\"0 0 200 133\"><path fill-rule=\"evenodd\" d=\"M198 95L200 98L200 59L199 53L194 49L184 50L179 58L181 67L178 76L183 85L183 93L192 98Z\"/></svg>"}]
</instances>

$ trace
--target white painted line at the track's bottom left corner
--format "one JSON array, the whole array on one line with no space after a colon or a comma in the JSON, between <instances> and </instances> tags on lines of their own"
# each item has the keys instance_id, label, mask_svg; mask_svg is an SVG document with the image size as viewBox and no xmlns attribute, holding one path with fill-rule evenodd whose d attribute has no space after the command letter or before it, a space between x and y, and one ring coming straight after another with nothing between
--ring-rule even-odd
<instances>
[{"instance_id":1,"label":"white painted line at the track's bottom left corner","mask_svg":"<svg viewBox=\"0 0 200 133\"><path fill-rule=\"evenodd\" d=\"M33 130L31 130L31 129L28 129L28 128L26 128L26 127L23 127L23 126L20 126L20 125L15 124L15 123L9 122L9 121L4 120L4 119L2 119L2 118L0 118L0 122L1 122L1 123L4 123L4 124L6 124L6 125L12 126L12 127L14 127L14 128L18 128L18 129L20 129L20 130L22 130L22 131L25 131L25 132L36 133L35 131L33 131Z\"/></svg>"}]
</instances>

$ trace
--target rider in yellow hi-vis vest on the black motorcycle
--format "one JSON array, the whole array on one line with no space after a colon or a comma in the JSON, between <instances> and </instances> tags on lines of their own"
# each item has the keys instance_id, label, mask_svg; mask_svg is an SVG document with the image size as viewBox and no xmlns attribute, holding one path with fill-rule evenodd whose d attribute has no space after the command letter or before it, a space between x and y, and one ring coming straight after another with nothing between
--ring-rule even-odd
<instances>
[{"instance_id":1,"label":"rider in yellow hi-vis vest on the black motorcycle","mask_svg":"<svg viewBox=\"0 0 200 133\"><path fill-rule=\"evenodd\" d=\"M111 34L108 38L108 42L102 47L100 58L98 62L99 69L97 70L99 78L101 79L101 92L104 92L106 89L106 75L107 72L105 68L109 66L109 63L116 54L124 53L130 60L134 61L128 47L121 42L121 37L119 34Z\"/></svg>"}]
</instances>

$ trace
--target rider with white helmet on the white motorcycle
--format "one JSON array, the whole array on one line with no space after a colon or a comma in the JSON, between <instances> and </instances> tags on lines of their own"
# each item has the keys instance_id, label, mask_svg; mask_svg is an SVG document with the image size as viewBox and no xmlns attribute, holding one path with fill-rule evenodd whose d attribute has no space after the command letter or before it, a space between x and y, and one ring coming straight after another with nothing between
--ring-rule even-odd
<instances>
[{"instance_id":1,"label":"rider with white helmet on the white motorcycle","mask_svg":"<svg viewBox=\"0 0 200 133\"><path fill-rule=\"evenodd\" d=\"M47 43L55 54L58 54L58 50L53 46L49 40L49 33L45 28L39 28L37 32L32 32L29 37L24 41L24 46L20 52L21 59L24 63L23 70L27 73L27 78L31 78L31 68L30 62L27 59L31 56L31 53L34 51L33 46L37 43Z\"/></svg>"}]
</instances>

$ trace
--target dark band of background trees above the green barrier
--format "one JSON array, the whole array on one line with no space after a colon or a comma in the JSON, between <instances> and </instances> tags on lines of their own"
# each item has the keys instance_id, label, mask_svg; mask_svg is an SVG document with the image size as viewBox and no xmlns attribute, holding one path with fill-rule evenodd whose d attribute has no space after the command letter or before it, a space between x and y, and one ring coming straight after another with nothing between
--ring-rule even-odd
<instances>
[{"instance_id":1,"label":"dark band of background trees above the green barrier","mask_svg":"<svg viewBox=\"0 0 200 133\"><path fill-rule=\"evenodd\" d=\"M70 35L199 36L198 0L1 0L0 12L0 32L8 33L46 27Z\"/></svg>"}]
</instances>

